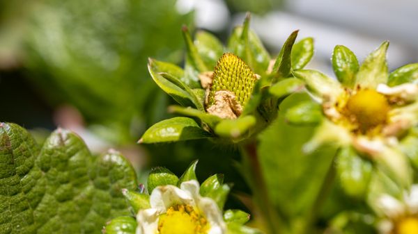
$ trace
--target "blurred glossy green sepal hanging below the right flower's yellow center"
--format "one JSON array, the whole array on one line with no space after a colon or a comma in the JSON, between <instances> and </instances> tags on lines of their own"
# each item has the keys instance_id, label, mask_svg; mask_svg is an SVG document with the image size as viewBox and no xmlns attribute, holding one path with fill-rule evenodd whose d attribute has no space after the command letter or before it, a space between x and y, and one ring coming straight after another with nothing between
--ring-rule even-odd
<instances>
[{"instance_id":1,"label":"blurred glossy green sepal hanging below the right flower's yellow center","mask_svg":"<svg viewBox=\"0 0 418 234\"><path fill-rule=\"evenodd\" d=\"M369 190L373 165L351 147L343 147L336 158L336 174L341 187L351 197L361 199Z\"/></svg>"}]
</instances>

